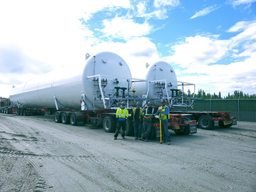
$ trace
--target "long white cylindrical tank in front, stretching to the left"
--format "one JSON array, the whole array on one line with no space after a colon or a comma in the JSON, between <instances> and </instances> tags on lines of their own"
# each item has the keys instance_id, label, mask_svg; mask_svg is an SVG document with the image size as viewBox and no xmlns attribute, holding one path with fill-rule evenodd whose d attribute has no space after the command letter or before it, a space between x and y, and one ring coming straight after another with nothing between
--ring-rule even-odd
<instances>
[{"instance_id":1,"label":"long white cylindrical tank in front, stretching to the left","mask_svg":"<svg viewBox=\"0 0 256 192\"><path fill-rule=\"evenodd\" d=\"M56 97L62 109L81 109L81 94L85 94L85 101L90 109L104 109L104 105L99 103L102 102L99 81L104 78L104 95L113 96L115 87L128 88L128 83L131 86L132 81L127 81L132 78L131 71L127 63L112 52L100 52L94 56L87 54L87 57L80 66L71 64L61 67L15 86L9 96L12 105L17 107L18 102L23 108L55 108L53 98ZM101 79L87 78L98 74L101 74Z\"/></svg>"}]
</instances>

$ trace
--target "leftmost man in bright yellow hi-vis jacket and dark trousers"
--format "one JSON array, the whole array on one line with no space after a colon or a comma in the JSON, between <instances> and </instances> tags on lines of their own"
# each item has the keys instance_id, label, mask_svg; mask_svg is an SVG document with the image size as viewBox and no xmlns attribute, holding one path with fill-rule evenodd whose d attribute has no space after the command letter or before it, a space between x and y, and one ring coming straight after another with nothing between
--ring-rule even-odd
<instances>
[{"instance_id":1,"label":"leftmost man in bright yellow hi-vis jacket and dark trousers","mask_svg":"<svg viewBox=\"0 0 256 192\"><path fill-rule=\"evenodd\" d=\"M121 127L122 127L121 136L122 136L122 139L125 139L124 133L125 133L125 127L126 127L126 120L127 120L128 116L129 116L128 110L125 109L125 102L123 101L121 103L121 107L116 110L117 125L116 125L116 129L115 129L114 140L117 139L118 133L119 133L119 130Z\"/></svg>"}]
</instances>

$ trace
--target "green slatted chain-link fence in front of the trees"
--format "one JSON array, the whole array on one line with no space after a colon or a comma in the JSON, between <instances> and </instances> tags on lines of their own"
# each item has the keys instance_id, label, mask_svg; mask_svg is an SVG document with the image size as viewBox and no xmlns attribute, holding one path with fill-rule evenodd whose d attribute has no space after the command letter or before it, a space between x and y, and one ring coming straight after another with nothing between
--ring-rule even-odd
<instances>
[{"instance_id":1,"label":"green slatted chain-link fence in front of the trees","mask_svg":"<svg viewBox=\"0 0 256 192\"><path fill-rule=\"evenodd\" d=\"M184 103L188 104L187 101ZM175 111L227 111L237 121L256 122L256 99L211 99L194 100L194 108L174 106Z\"/></svg>"}]
</instances>

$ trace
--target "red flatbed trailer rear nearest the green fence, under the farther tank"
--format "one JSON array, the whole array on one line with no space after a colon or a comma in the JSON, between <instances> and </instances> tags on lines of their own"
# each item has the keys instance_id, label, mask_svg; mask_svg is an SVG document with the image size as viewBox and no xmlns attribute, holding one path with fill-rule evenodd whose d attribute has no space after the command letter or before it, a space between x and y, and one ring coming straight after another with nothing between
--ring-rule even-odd
<instances>
[{"instance_id":1,"label":"red flatbed trailer rear nearest the green fence, under the farther tank","mask_svg":"<svg viewBox=\"0 0 256 192\"><path fill-rule=\"evenodd\" d=\"M196 120L201 129L210 130L214 127L227 128L237 124L237 118L228 112L209 111L170 111L170 114L187 114L190 120Z\"/></svg>"}]
</instances>

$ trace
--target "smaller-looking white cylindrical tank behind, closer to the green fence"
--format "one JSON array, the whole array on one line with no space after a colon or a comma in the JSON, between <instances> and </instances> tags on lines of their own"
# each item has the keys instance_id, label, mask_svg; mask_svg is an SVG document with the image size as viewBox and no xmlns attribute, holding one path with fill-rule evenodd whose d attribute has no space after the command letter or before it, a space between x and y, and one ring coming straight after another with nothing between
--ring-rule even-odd
<instances>
[{"instance_id":1,"label":"smaller-looking white cylindrical tank behind, closer to the green fence","mask_svg":"<svg viewBox=\"0 0 256 192\"><path fill-rule=\"evenodd\" d=\"M166 79L166 87L168 91L168 96L170 97L172 95L172 91L170 89L177 89L178 83L177 83L177 76L174 72L174 69L166 62L164 61L158 61L154 63L153 65L145 65L145 68L142 70L141 73L137 73L136 68L131 69L132 76L136 79L145 79L147 81L155 81L149 83L149 90L148 90L148 83L147 82L137 82L134 84L134 87L136 89L135 95L138 95L139 97L143 97L143 95L147 94L147 98L151 99L161 99L166 97L166 90L163 89L165 81L159 81ZM134 75L136 73L136 75ZM146 92L145 92L146 90ZM167 99L166 99L167 101ZM153 101L153 107L160 106L161 104L159 102Z\"/></svg>"}]
</instances>

